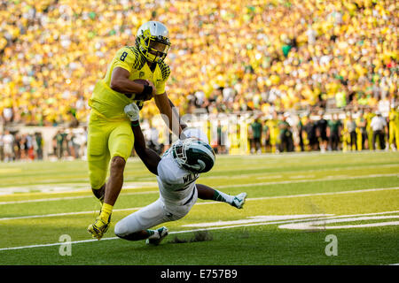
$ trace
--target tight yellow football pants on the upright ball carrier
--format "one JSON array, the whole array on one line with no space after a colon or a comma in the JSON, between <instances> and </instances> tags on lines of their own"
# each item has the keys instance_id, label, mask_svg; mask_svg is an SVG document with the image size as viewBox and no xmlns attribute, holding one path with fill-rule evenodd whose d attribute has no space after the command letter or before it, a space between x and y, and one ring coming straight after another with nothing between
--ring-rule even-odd
<instances>
[{"instance_id":1,"label":"tight yellow football pants on the upright ball carrier","mask_svg":"<svg viewBox=\"0 0 399 283\"><path fill-rule=\"evenodd\" d=\"M125 161L128 159L133 143L134 136L129 120L109 121L91 111L87 159L92 188L98 189L106 183L111 158L122 157Z\"/></svg>"}]
</instances>

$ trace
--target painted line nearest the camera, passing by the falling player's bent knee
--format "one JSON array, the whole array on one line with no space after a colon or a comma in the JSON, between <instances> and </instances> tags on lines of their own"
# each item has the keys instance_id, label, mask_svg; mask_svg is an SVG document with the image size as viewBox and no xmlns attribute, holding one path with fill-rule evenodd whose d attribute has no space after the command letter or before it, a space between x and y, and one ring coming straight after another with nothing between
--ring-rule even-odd
<instances>
[{"instance_id":1,"label":"painted line nearest the camera, passing by the falling player's bent knee","mask_svg":"<svg viewBox=\"0 0 399 283\"><path fill-rule=\"evenodd\" d=\"M388 214L388 213L394 213L394 212L399 212L399 211L376 212L375 214ZM357 214L357 215L359 215L359 214ZM362 215L362 214L360 214L360 215ZM366 213L364 215L373 215L373 213ZM339 216L339 217L340 218L344 218L344 217L348 218L348 217L353 217L353 216L354 215L342 215L342 216ZM249 224L241 224L241 225L234 225L234 226L207 227L207 228L200 228L200 229L169 232L169 234L192 233L192 232L209 231L209 230L223 230L223 229L238 228L238 227L243 227L243 226L266 226L266 225L274 225L274 224L303 222L304 220L305 221L319 220L319 219L320 218L308 218L308 219L299 219L299 220L298 219L297 220L283 220L283 221L280 220L280 221L271 221L271 222L262 222L262 223L249 223ZM101 241L116 240L116 239L120 239L120 238L118 238L118 237L102 238ZM98 241L98 240L90 239L90 240L81 240L81 241L71 241L70 244L79 244L79 243L93 242L93 241ZM30 246L2 248L2 249L0 249L0 251L14 250L14 249L43 248L43 247L59 246L61 244L64 244L64 242L55 242L55 243L50 243L50 244L38 244L38 245L30 245Z\"/></svg>"}]
</instances>

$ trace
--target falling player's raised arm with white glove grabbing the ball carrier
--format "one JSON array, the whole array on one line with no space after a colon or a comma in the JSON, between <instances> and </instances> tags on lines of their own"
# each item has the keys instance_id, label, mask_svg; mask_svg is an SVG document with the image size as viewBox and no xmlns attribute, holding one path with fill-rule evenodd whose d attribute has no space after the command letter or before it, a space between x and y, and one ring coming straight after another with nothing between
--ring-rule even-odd
<instances>
[{"instance_id":1,"label":"falling player's raised arm with white glove grabbing the ball carrier","mask_svg":"<svg viewBox=\"0 0 399 283\"><path fill-rule=\"evenodd\" d=\"M131 121L131 129L135 136L134 147L138 157L143 161L147 169L155 175L158 175L158 164L160 156L153 150L145 146L145 137L141 131L139 123L139 110L136 103L130 103L125 107L125 113Z\"/></svg>"}]
</instances>

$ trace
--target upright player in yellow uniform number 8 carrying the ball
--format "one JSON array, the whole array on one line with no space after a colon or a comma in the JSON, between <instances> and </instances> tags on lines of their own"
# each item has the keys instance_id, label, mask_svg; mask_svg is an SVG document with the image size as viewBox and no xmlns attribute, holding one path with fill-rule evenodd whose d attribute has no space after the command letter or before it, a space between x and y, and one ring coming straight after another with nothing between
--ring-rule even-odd
<instances>
[{"instance_id":1,"label":"upright player in yellow uniform number 8 carrying the ball","mask_svg":"<svg viewBox=\"0 0 399 283\"><path fill-rule=\"evenodd\" d=\"M97 82L90 97L87 149L90 185L102 208L88 232L98 240L109 227L113 205L121 192L126 160L133 149L133 133L124 107L129 103L142 107L145 100L153 97L169 129L181 133L173 104L165 92L170 71L164 59L169 47L168 28L157 21L146 22L138 28L136 45L116 52L106 76ZM135 82L137 79L146 80L148 85Z\"/></svg>"}]
</instances>

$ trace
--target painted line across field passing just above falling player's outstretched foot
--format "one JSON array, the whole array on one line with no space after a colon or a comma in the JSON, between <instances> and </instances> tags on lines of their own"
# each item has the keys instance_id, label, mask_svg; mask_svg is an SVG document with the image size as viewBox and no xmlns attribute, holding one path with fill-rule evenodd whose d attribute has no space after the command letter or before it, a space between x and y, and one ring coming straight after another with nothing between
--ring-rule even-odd
<instances>
[{"instance_id":1,"label":"painted line across field passing just above falling player's outstretched foot","mask_svg":"<svg viewBox=\"0 0 399 283\"><path fill-rule=\"evenodd\" d=\"M235 184L235 185L223 185L223 186L215 186L215 188L226 188L226 187L256 187L256 186L267 186L267 185L278 185L278 184L296 184L296 183L303 183L303 182L314 182L314 181L329 181L329 180L356 180L356 179L367 179L367 178L379 178L379 177L392 177L397 176L397 173L390 173L390 174L372 174L372 175L362 175L362 176L326 176L325 178L321 179L309 179L309 180L282 180L282 181L274 181L274 182L260 182L260 183L248 183L248 184ZM340 178L335 178L340 177ZM156 184L156 183L155 183ZM126 187L123 188L125 190L129 189L137 189L137 187ZM87 191L87 189L85 189ZM72 191L76 192L76 191ZM149 192L148 194L153 194L154 191L146 191ZM145 194L146 192L141 192L140 194ZM128 194L123 194L128 195ZM0 205L4 204L15 204L15 203L36 203L36 202L51 202L51 201L59 201L64 199L79 199L79 198L90 198L92 195L79 195L79 196L65 196L65 197L58 197L58 198L45 198L45 199L37 199L37 200L24 200L24 201L11 201L11 202L0 202Z\"/></svg>"}]
</instances>

